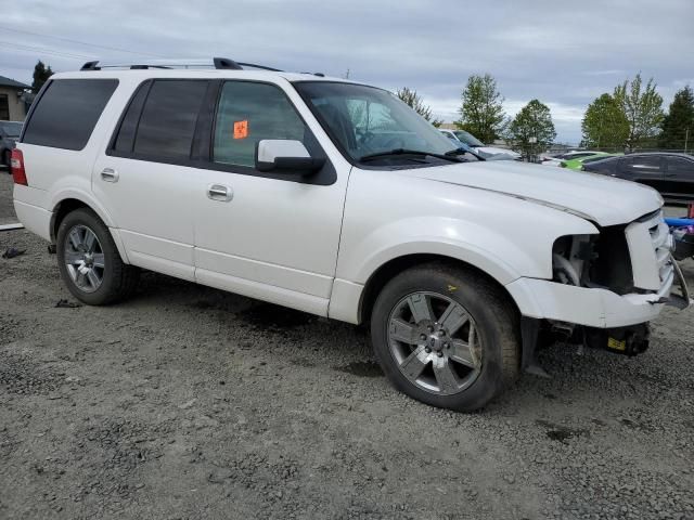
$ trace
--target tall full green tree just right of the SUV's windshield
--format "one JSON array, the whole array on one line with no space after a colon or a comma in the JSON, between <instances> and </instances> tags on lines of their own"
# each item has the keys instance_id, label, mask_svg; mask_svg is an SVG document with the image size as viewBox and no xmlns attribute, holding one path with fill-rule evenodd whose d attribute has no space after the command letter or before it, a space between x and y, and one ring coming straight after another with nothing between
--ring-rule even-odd
<instances>
[{"instance_id":1,"label":"tall full green tree just right of the SUV's windshield","mask_svg":"<svg viewBox=\"0 0 694 520\"><path fill-rule=\"evenodd\" d=\"M483 143L493 143L506 126L504 99L497 90L497 80L489 74L471 76L461 99L461 117L455 125Z\"/></svg>"}]
</instances>

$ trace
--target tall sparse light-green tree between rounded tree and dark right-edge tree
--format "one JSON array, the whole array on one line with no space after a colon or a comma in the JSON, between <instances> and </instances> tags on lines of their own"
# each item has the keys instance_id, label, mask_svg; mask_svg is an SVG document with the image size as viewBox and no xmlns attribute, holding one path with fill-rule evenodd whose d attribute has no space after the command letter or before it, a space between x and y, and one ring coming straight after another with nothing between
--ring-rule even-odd
<instances>
[{"instance_id":1,"label":"tall sparse light-green tree between rounded tree and dark right-edge tree","mask_svg":"<svg viewBox=\"0 0 694 520\"><path fill-rule=\"evenodd\" d=\"M655 88L656 83L651 78L642 89L641 73L637 74L631 82L627 79L615 88L613 94L615 101L629 121L629 134L626 142L629 151L646 144L660 130L664 117L663 98Z\"/></svg>"}]
</instances>

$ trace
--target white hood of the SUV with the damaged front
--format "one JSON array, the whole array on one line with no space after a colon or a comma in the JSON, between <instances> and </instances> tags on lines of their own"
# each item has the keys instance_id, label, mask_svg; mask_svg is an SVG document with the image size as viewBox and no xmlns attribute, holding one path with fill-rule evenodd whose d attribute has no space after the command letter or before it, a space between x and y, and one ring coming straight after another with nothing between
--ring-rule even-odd
<instances>
[{"instance_id":1,"label":"white hood of the SUV with the damaged front","mask_svg":"<svg viewBox=\"0 0 694 520\"><path fill-rule=\"evenodd\" d=\"M464 162L401 172L524 198L578 214L602 226L631 222L663 205L658 192L635 182L511 160Z\"/></svg>"}]
</instances>

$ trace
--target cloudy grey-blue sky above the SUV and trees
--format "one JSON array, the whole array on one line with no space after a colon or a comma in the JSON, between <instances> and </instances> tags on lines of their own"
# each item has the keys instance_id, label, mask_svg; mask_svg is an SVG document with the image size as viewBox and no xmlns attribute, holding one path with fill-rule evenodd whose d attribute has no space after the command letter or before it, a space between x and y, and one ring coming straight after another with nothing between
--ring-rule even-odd
<instances>
[{"instance_id":1,"label":"cloudy grey-blue sky above the SUV and trees","mask_svg":"<svg viewBox=\"0 0 694 520\"><path fill-rule=\"evenodd\" d=\"M9 0L3 0L9 1ZM37 60L224 56L415 89L446 122L473 74L491 74L515 115L539 99L557 142L577 144L587 105L641 72L665 107L694 86L694 0L23 0L0 18L0 76Z\"/></svg>"}]
</instances>

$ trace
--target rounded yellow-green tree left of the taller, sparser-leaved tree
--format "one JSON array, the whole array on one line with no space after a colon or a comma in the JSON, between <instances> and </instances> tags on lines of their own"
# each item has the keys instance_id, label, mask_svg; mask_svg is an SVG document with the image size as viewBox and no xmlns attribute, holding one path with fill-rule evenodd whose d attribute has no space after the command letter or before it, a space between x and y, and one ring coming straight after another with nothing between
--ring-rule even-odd
<instances>
[{"instance_id":1,"label":"rounded yellow-green tree left of the taller, sparser-leaved tree","mask_svg":"<svg viewBox=\"0 0 694 520\"><path fill-rule=\"evenodd\" d=\"M581 130L586 147L624 150L629 138L629 121L615 99L603 94L588 105Z\"/></svg>"}]
</instances>

